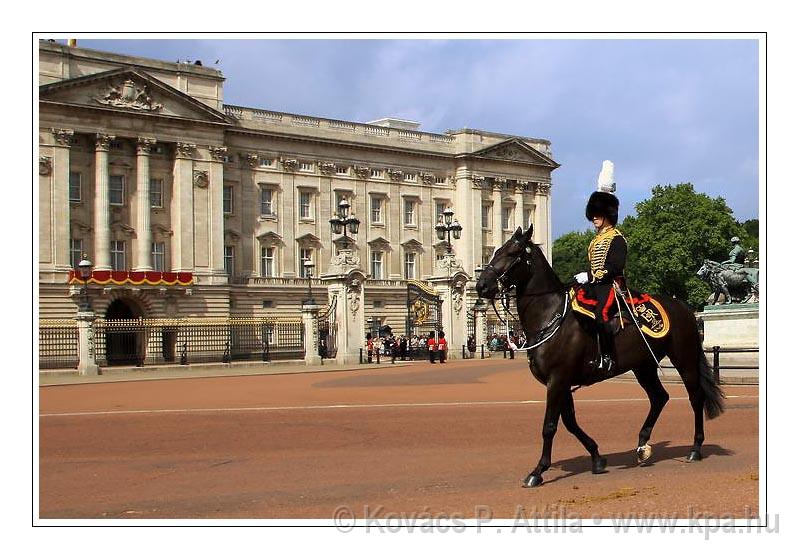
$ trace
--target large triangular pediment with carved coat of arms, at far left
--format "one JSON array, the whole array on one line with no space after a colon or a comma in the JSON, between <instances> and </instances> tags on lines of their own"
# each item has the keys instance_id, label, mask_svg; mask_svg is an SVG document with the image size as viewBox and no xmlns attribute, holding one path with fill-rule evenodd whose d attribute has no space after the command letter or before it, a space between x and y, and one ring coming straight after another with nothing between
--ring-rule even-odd
<instances>
[{"instance_id":1,"label":"large triangular pediment with carved coat of arms, at far left","mask_svg":"<svg viewBox=\"0 0 800 560\"><path fill-rule=\"evenodd\" d=\"M118 68L44 84L39 86L39 102L220 124L230 122L219 111L137 68Z\"/></svg>"}]
</instances>

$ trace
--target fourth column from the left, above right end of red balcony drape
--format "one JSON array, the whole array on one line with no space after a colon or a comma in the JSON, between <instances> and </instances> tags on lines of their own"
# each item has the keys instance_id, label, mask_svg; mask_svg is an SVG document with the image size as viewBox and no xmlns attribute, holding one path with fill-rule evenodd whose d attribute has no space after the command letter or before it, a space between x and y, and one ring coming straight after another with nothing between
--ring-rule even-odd
<instances>
[{"instance_id":1,"label":"fourth column from the left, above right end of red balcony drape","mask_svg":"<svg viewBox=\"0 0 800 560\"><path fill-rule=\"evenodd\" d=\"M175 165L172 175L172 270L194 270L194 192L192 153L196 146L178 142L175 145Z\"/></svg>"}]
</instances>

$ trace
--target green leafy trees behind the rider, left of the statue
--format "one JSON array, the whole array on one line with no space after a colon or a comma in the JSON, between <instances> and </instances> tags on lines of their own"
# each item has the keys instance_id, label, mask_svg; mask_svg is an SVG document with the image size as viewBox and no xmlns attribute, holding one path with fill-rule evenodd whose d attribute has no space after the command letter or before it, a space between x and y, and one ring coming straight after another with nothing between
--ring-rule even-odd
<instances>
[{"instance_id":1,"label":"green leafy trees behind the rider, left of the statue","mask_svg":"<svg viewBox=\"0 0 800 560\"><path fill-rule=\"evenodd\" d=\"M711 291L696 275L704 258L727 259L734 235L745 249L758 248L758 220L738 223L723 198L697 193L691 183L653 187L652 196L636 204L636 216L618 227L628 242L628 285L675 296L694 309L702 309ZM562 280L588 268L593 236L592 230L571 232L555 241L553 268Z\"/></svg>"}]
</instances>

